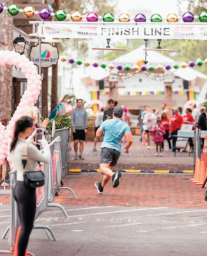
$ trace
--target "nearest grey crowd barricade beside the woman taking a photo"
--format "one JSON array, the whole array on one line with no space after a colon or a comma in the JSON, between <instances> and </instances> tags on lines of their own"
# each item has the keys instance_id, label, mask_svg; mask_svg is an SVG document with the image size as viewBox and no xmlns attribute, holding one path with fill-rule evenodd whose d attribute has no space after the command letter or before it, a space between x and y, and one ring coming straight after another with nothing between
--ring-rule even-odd
<instances>
[{"instance_id":1,"label":"nearest grey crowd barricade beside the woman taking a photo","mask_svg":"<svg viewBox=\"0 0 207 256\"><path fill-rule=\"evenodd\" d=\"M45 184L42 187L36 188L36 214L35 220L40 216L42 212L47 209L49 202L54 201L54 195L56 189L59 188L59 184L61 181L61 138L58 136L55 140L50 143L49 147L51 150L52 159L49 164L37 164L36 170L42 170L45 174ZM53 164L55 164L55 168L53 168ZM10 172L10 226L6 228L3 238L6 237L6 234L10 230L10 252L0 250L0 254L13 254L15 239L17 234L17 228L20 226L18 211L17 211L17 203L13 198L13 189L15 188L16 183L16 171L12 170ZM56 240L52 230L49 227L34 225L34 228L42 228L45 230L47 236L49 237L49 232L52 236L53 240ZM50 237L49 237L50 239ZM30 255L33 255L30 253Z\"/></svg>"}]
</instances>

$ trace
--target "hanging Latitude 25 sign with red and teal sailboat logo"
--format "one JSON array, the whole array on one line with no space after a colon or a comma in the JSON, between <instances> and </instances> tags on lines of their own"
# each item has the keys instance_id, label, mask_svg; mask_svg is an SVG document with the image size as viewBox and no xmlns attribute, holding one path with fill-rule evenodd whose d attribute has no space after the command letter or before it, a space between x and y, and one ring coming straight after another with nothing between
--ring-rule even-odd
<instances>
[{"instance_id":1,"label":"hanging Latitude 25 sign with red and teal sailboat logo","mask_svg":"<svg viewBox=\"0 0 207 256\"><path fill-rule=\"evenodd\" d=\"M34 65L39 67L40 48L39 44L31 47L29 54L31 61ZM56 65L59 58L59 52L56 46L52 46L49 43L41 44L41 67L49 68L52 65Z\"/></svg>"}]
</instances>

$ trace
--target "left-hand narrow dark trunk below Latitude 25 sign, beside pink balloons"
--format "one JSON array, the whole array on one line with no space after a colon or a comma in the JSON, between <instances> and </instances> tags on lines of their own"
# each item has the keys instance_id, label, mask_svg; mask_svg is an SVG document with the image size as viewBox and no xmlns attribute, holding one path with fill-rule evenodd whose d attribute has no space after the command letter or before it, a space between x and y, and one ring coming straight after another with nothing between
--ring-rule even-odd
<instances>
[{"instance_id":1,"label":"left-hand narrow dark trunk below Latitude 25 sign, beside pink balloons","mask_svg":"<svg viewBox=\"0 0 207 256\"><path fill-rule=\"evenodd\" d=\"M42 68L41 73L43 74L43 79L42 79L42 116L44 116L46 118L48 116L48 111L47 111L48 68Z\"/></svg>"}]
</instances>

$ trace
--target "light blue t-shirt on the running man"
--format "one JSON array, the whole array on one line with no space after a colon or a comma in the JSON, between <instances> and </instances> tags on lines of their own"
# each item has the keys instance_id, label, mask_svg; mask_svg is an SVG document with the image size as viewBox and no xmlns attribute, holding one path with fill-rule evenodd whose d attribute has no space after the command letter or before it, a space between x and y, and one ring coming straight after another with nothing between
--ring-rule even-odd
<instances>
[{"instance_id":1,"label":"light blue t-shirt on the running man","mask_svg":"<svg viewBox=\"0 0 207 256\"><path fill-rule=\"evenodd\" d=\"M128 124L114 118L107 119L102 123L100 129L105 131L101 148L114 148L121 151L121 139L123 134L130 132Z\"/></svg>"}]
</instances>

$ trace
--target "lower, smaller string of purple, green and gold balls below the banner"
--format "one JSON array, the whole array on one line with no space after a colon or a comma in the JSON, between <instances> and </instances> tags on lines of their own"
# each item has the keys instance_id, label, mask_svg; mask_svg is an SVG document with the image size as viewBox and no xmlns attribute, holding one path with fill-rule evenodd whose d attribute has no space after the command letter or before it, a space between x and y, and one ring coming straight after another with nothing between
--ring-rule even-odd
<instances>
[{"instance_id":1,"label":"lower, smaller string of purple, green and gold balls below the banner","mask_svg":"<svg viewBox=\"0 0 207 256\"><path fill-rule=\"evenodd\" d=\"M67 61L67 58L65 56L61 57L60 58L61 61L65 62ZM89 61L81 61L81 60L77 60L75 61L73 58L70 58L68 60L68 63L70 64L73 64L73 63L76 63L77 65L82 65L84 64L86 67L89 67L89 66L93 66L93 67L102 67L102 68L109 68L109 70L114 70L115 68L119 71L121 70L126 70L126 71L130 71L130 70L133 70L133 71L137 71L137 70L141 70L141 71L146 71L147 69L149 69L150 71L153 71L153 70L171 70L172 68L174 69L178 69L178 68L186 68L186 67L195 67L196 65L201 67L203 66L203 64L205 63L207 65L207 58L202 61L201 59L198 59L197 61L190 61L189 63L185 63L185 62L182 62L180 65L178 64L174 64L173 66L167 64L165 65L165 67L163 67L162 65L157 65L157 67L154 67L154 66L150 66L150 67L146 67L145 65L143 65L142 67L138 67L137 65L134 65L133 67L130 67L128 65L126 65L125 67L122 67L121 65L118 65L118 66L114 66L114 64L109 64L109 65L106 65L105 63L101 63L101 64L98 64L98 63L89 63Z\"/></svg>"}]
</instances>

